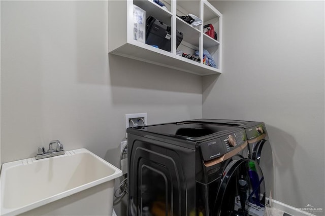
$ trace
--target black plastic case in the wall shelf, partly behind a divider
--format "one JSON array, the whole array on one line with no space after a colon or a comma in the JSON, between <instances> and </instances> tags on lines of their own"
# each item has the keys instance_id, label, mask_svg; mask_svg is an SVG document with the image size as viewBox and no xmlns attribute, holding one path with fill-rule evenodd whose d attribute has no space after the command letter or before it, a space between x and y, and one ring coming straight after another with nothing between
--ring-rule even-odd
<instances>
[{"instance_id":1,"label":"black plastic case in the wall shelf, partly behind a divider","mask_svg":"<svg viewBox=\"0 0 325 216\"><path fill-rule=\"evenodd\" d=\"M183 33L176 30L176 48L183 40ZM171 51L171 27L160 22L153 16L146 20L146 44Z\"/></svg>"}]
</instances>

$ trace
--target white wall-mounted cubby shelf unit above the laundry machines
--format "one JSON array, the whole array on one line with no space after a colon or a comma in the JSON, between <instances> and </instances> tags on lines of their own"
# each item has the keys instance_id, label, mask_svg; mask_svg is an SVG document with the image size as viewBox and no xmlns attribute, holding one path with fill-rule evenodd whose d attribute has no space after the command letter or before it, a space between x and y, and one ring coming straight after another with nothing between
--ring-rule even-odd
<instances>
[{"instance_id":1,"label":"white wall-mounted cubby shelf unit above the laundry machines","mask_svg":"<svg viewBox=\"0 0 325 216\"><path fill-rule=\"evenodd\" d=\"M222 69L222 14L207 0L170 0L163 2L167 9L150 0L108 1L108 45L109 53L153 63L197 75L219 74ZM154 48L133 38L133 5L146 11L146 18L153 16L171 26L171 52ZM193 27L178 16L193 14L203 24ZM203 32L203 26L212 24L217 40ZM183 33L183 40L176 49L176 29ZM199 50L201 62L179 56L177 50L194 55ZM203 64L203 50L213 57L217 68Z\"/></svg>"}]
</instances>

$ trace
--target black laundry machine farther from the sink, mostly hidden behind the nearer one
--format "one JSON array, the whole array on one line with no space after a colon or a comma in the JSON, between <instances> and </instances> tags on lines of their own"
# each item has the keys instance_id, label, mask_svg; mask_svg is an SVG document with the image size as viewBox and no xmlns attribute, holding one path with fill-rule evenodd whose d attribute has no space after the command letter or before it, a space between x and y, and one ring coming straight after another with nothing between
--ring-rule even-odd
<instances>
[{"instance_id":1,"label":"black laundry machine farther from the sink, mostly hidden behind the nearer one","mask_svg":"<svg viewBox=\"0 0 325 216\"><path fill-rule=\"evenodd\" d=\"M271 206L273 191L273 154L264 122L228 120L228 119L195 119L185 122L201 124L217 124L245 129L248 141L248 157L261 167L265 180L267 206Z\"/></svg>"}]
</instances>

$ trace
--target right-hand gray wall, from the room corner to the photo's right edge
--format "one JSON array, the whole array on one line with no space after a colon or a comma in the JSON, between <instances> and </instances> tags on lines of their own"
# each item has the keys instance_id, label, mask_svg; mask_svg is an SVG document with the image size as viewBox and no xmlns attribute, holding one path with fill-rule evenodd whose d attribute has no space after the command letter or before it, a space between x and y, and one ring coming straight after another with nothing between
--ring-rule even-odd
<instances>
[{"instance_id":1,"label":"right-hand gray wall, from the room corner to the photo's right edge","mask_svg":"<svg viewBox=\"0 0 325 216\"><path fill-rule=\"evenodd\" d=\"M203 79L203 117L266 122L274 198L325 209L324 2L212 4L223 14L223 74Z\"/></svg>"}]
</instances>

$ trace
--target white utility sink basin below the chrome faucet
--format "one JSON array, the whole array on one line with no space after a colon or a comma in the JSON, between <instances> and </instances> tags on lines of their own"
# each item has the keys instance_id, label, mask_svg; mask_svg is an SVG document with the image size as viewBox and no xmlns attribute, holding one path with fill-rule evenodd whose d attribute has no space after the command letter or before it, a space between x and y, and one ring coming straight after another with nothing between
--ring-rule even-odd
<instances>
[{"instance_id":1,"label":"white utility sink basin below the chrome faucet","mask_svg":"<svg viewBox=\"0 0 325 216\"><path fill-rule=\"evenodd\" d=\"M86 149L5 163L0 214L112 215L114 179L121 175Z\"/></svg>"}]
</instances>

